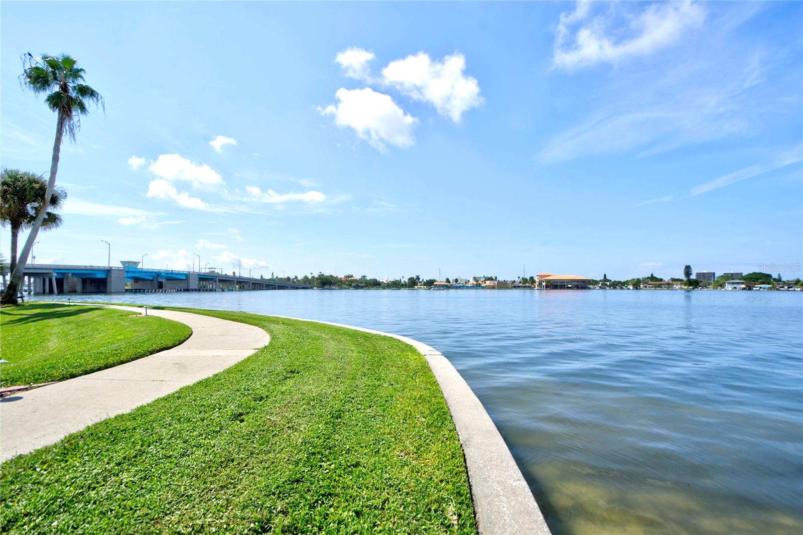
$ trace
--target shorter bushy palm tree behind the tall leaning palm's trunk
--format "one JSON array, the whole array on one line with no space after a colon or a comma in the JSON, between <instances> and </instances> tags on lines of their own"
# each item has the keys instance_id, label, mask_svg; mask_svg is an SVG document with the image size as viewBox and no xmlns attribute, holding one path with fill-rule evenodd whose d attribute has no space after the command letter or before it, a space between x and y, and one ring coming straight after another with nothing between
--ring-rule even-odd
<instances>
[{"instance_id":1,"label":"shorter bushy palm tree behind the tall leaning palm's trunk","mask_svg":"<svg viewBox=\"0 0 803 535\"><path fill-rule=\"evenodd\" d=\"M14 272L17 264L17 239L19 231L31 227L39 214L47 191L47 182L39 174L26 173L18 169L3 169L0 174L0 224L11 227L11 259L10 272ZM55 188L48 206L59 210L63 206L67 193ZM42 221L41 230L51 231L60 227L61 216L55 211L47 211Z\"/></svg>"}]
</instances>

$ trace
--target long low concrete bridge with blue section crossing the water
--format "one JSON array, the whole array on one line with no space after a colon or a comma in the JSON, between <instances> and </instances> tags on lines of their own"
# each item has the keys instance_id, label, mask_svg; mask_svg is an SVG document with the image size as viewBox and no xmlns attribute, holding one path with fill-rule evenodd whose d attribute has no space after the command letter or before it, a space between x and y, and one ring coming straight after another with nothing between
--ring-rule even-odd
<instances>
[{"instance_id":1,"label":"long low concrete bridge with blue section crossing the water","mask_svg":"<svg viewBox=\"0 0 803 535\"><path fill-rule=\"evenodd\" d=\"M7 264L6 264L7 268ZM7 269L6 269L7 271ZM3 287L6 276L3 277ZM312 288L270 279L226 275L214 271L182 272L136 266L100 267L28 263L22 281L28 293L231 292L238 290L301 290Z\"/></svg>"}]
</instances>

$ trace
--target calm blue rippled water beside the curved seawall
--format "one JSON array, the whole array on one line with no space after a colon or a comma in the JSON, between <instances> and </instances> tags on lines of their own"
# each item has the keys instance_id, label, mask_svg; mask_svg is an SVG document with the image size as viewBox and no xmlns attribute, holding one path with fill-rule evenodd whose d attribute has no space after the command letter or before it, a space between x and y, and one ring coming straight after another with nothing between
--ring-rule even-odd
<instances>
[{"instance_id":1,"label":"calm blue rippled water beside the curved seawall","mask_svg":"<svg viewBox=\"0 0 803 535\"><path fill-rule=\"evenodd\" d=\"M337 321L433 345L485 405L553 533L803 533L803 293L116 300Z\"/></svg>"}]
</instances>

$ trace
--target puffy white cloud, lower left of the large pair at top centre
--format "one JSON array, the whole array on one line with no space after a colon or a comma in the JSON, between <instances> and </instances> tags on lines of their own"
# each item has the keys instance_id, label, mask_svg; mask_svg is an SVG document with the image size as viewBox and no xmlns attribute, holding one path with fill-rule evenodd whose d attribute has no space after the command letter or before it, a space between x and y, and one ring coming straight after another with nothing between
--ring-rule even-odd
<instances>
[{"instance_id":1,"label":"puffy white cloud, lower left of the large pair at top centre","mask_svg":"<svg viewBox=\"0 0 803 535\"><path fill-rule=\"evenodd\" d=\"M397 147L413 144L418 119L402 111L390 96L371 88L340 88L335 96L340 100L336 106L318 109L334 116L336 125L354 129L357 136L381 151L385 150L385 142Z\"/></svg>"}]
</instances>

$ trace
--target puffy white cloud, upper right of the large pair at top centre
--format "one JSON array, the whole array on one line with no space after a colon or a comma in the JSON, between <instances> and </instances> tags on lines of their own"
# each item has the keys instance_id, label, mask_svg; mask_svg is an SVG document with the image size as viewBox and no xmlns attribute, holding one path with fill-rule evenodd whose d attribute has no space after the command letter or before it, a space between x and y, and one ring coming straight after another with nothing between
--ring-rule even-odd
<instances>
[{"instance_id":1,"label":"puffy white cloud, upper right of the large pair at top centre","mask_svg":"<svg viewBox=\"0 0 803 535\"><path fill-rule=\"evenodd\" d=\"M433 61L424 52L397 59L382 69L385 84L391 84L415 100L434 105L442 116L459 122L463 112L483 103L479 84L466 76L466 58L462 54L447 55Z\"/></svg>"}]
</instances>

